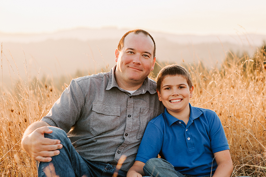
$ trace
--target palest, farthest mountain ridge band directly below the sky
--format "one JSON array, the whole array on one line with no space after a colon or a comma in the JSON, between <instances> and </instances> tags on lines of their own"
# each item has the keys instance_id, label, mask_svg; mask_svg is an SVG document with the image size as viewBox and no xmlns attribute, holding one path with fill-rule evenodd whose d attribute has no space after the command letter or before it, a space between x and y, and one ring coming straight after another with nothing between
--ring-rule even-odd
<instances>
[{"instance_id":1,"label":"palest, farthest mountain ridge band directly below the sky","mask_svg":"<svg viewBox=\"0 0 266 177\"><path fill-rule=\"evenodd\" d=\"M0 40L3 42L42 42L48 39L77 39L81 41L97 39L120 39L130 29L113 28L75 28L61 30L53 33L35 34L12 34L1 33ZM154 38L165 38L168 41L180 44L199 44L206 42L230 42L239 45L261 45L266 40L266 35L242 34L242 35L176 35L162 32L150 32Z\"/></svg>"}]
</instances>

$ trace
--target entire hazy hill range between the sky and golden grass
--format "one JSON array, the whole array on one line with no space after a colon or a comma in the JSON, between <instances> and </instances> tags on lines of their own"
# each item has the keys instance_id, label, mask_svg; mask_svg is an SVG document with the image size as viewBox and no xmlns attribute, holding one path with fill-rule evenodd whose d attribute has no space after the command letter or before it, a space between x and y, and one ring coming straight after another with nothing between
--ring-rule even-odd
<instances>
[{"instance_id":1,"label":"entire hazy hill range between the sky and golden grass","mask_svg":"<svg viewBox=\"0 0 266 177\"><path fill-rule=\"evenodd\" d=\"M21 77L25 78L26 62L30 78L38 75L39 68L39 77L75 77L78 70L87 75L90 74L88 71L93 73L106 68L105 65L108 65L109 71L115 65L114 52L118 42L128 30L77 28L46 34L0 32L4 80L14 76L13 70L17 73L16 67ZM220 65L228 50L235 53L246 51L252 55L256 47L266 40L266 35L250 34L196 36L152 31L150 34L156 42L157 61L182 64L184 60L193 64L200 59L209 67Z\"/></svg>"}]
</instances>

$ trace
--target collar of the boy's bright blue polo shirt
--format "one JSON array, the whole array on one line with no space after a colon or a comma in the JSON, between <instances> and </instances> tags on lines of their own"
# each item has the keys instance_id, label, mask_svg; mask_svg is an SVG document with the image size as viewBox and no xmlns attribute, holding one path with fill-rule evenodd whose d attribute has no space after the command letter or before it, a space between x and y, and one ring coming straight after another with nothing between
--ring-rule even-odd
<instances>
[{"instance_id":1,"label":"collar of the boy's bright blue polo shirt","mask_svg":"<svg viewBox=\"0 0 266 177\"><path fill-rule=\"evenodd\" d=\"M200 110L198 110L196 107L191 106L190 103L189 103L189 109L190 109L189 119L191 119L191 120L197 119L202 114L202 112ZM173 117L171 114L169 114L166 108L164 109L164 114L165 114L164 117L166 118L169 126L171 126L174 122L179 121L179 119L177 119L177 118Z\"/></svg>"}]
</instances>

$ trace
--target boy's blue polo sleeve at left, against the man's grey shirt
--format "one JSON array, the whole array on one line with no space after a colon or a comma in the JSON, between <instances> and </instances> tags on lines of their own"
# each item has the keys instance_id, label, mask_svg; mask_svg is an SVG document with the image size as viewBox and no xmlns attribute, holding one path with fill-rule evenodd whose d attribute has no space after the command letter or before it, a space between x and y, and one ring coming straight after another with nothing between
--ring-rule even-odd
<instances>
[{"instance_id":1,"label":"boy's blue polo sleeve at left, against the man's grey shirt","mask_svg":"<svg viewBox=\"0 0 266 177\"><path fill-rule=\"evenodd\" d=\"M163 132L155 124L149 122L135 160L146 163L151 158L156 158L163 144Z\"/></svg>"}]
</instances>

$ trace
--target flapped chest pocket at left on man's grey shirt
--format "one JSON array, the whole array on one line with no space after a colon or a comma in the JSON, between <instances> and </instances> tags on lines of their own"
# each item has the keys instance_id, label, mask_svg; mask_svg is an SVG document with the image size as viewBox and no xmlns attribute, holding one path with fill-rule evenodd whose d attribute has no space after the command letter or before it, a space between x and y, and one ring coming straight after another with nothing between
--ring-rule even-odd
<instances>
[{"instance_id":1,"label":"flapped chest pocket at left on man's grey shirt","mask_svg":"<svg viewBox=\"0 0 266 177\"><path fill-rule=\"evenodd\" d=\"M116 135L119 128L120 106L93 103L90 132L94 135Z\"/></svg>"}]
</instances>

